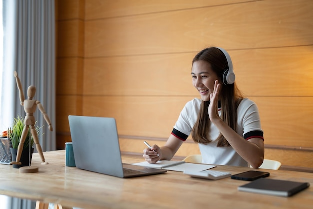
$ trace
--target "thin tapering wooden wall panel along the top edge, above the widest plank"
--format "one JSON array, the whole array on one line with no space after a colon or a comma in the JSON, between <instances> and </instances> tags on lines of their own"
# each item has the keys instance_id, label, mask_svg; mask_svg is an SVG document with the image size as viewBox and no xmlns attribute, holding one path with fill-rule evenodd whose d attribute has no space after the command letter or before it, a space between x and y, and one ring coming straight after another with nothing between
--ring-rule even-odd
<instances>
[{"instance_id":1,"label":"thin tapering wooden wall panel along the top edge, above the widest plank","mask_svg":"<svg viewBox=\"0 0 313 209\"><path fill-rule=\"evenodd\" d=\"M210 7L224 4L234 4L236 2L246 2L244 0L87 0L86 20L102 19L118 16L131 16L138 14L157 13L171 10L184 10L198 7ZM95 7L96 5L96 7Z\"/></svg>"}]
</instances>

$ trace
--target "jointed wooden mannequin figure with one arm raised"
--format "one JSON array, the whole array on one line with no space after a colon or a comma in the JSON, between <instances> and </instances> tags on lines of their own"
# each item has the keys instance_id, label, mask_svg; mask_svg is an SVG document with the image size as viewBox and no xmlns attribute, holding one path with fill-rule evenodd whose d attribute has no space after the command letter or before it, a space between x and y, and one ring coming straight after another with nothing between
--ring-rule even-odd
<instances>
[{"instance_id":1,"label":"jointed wooden mannequin figure with one arm raised","mask_svg":"<svg viewBox=\"0 0 313 209\"><path fill-rule=\"evenodd\" d=\"M38 109L40 110L40 112L42 113L42 115L44 117L44 120L49 125L49 130L53 131L53 127L52 127L50 118L46 114L46 112L45 112L42 104L40 103L40 101L33 99L33 97L34 97L34 95L36 93L36 87L35 86L29 86L28 87L28 91L27 91L28 99L25 99L24 92L23 92L23 89L22 89L22 85L21 85L21 82L20 82L20 80L18 78L18 75L17 75L16 71L14 72L14 76L15 76L17 87L18 87L18 90L19 90L20 104L22 106L24 106L24 110L26 112L26 116L25 116L25 127L23 129L22 134L21 134L21 139L20 139L20 142L19 142L19 145L18 145L18 148L17 148L16 161L15 162L10 162L10 164L18 164L18 165L21 164L21 162L19 162L19 160L20 160L21 153L23 151L23 146L24 146L24 142L25 142L27 133L29 131L29 127L30 127L30 132L31 132L31 135L33 137L33 140L34 140L34 142L36 144L37 151L38 151L38 153L39 153L39 155L41 157L41 160L42 160L41 164L48 164L47 162L45 162L45 159L44 159L44 156L43 156L43 153L42 153L42 148L41 148L41 146L39 144L38 134L37 134L37 131L35 129L35 122L36 121L35 121L35 117L33 116L33 114L35 113L35 111L36 111L36 109L38 107ZM26 172L28 172L28 171L26 171ZM33 172L33 171L29 171L29 172ZM36 171L34 171L34 172L36 172Z\"/></svg>"}]
</instances>

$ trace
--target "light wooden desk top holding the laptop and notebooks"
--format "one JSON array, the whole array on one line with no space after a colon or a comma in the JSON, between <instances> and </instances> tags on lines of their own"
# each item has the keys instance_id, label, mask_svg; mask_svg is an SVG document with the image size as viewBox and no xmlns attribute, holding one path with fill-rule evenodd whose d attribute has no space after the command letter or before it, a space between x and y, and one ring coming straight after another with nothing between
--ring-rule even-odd
<instances>
[{"instance_id":1,"label":"light wooden desk top holding the laptop and notebooks","mask_svg":"<svg viewBox=\"0 0 313 209\"><path fill-rule=\"evenodd\" d=\"M307 181L311 186L292 197L240 192L247 181L205 180L181 172L121 179L65 166L65 151L44 153L48 165L40 165L33 155L38 173L19 173L10 165L0 165L0 194L81 208L312 208L313 173L269 170L273 179ZM105 159L102 159L105 160ZM123 162L140 162L141 157L123 156ZM232 174L252 168L217 166ZM264 169L259 169L264 170ZM268 171L268 170L267 170Z\"/></svg>"}]
</instances>

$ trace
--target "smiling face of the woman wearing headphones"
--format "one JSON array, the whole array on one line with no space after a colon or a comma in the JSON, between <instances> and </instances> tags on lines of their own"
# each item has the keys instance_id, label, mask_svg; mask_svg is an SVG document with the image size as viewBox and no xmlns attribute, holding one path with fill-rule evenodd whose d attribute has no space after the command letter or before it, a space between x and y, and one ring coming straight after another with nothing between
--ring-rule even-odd
<instances>
[{"instance_id":1,"label":"smiling face of the woman wearing headphones","mask_svg":"<svg viewBox=\"0 0 313 209\"><path fill-rule=\"evenodd\" d=\"M217 74L211 69L211 64L206 61L198 60L192 65L192 84L199 91L203 101L210 100L210 94L213 93L214 83L220 79Z\"/></svg>"}]
</instances>

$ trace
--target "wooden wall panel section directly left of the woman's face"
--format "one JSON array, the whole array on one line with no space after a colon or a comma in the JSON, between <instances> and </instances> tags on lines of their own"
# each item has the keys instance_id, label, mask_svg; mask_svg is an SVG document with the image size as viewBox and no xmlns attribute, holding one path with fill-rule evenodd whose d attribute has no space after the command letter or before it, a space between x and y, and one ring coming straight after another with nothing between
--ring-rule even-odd
<instances>
[{"instance_id":1,"label":"wooden wall panel section directly left of the woman's face","mask_svg":"<svg viewBox=\"0 0 313 209\"><path fill-rule=\"evenodd\" d=\"M198 95L195 53L85 59L85 95ZM109 72L109 73L108 73Z\"/></svg>"}]
</instances>

